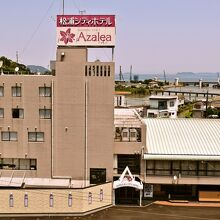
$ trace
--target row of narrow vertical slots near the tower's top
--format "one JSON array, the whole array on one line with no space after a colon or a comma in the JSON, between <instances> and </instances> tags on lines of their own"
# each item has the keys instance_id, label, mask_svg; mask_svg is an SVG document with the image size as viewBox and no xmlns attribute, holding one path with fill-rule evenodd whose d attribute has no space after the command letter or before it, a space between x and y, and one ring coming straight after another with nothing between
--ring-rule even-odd
<instances>
[{"instance_id":1,"label":"row of narrow vertical slots near the tower's top","mask_svg":"<svg viewBox=\"0 0 220 220\"><path fill-rule=\"evenodd\" d=\"M110 76L110 66L85 66L85 76Z\"/></svg>"}]
</instances>

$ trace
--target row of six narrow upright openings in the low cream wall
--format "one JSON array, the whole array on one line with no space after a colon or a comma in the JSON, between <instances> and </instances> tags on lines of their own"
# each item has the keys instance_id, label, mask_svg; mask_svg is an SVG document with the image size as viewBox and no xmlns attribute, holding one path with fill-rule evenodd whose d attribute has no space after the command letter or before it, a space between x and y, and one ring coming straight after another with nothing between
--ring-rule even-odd
<instances>
[{"instance_id":1,"label":"row of six narrow upright openings in the low cream wall","mask_svg":"<svg viewBox=\"0 0 220 220\"><path fill-rule=\"evenodd\" d=\"M49 207L54 207L54 194L50 193L49 195ZM99 201L102 202L104 198L104 194L103 194L103 189L100 189L100 193L99 193ZM29 198L28 198L28 193L24 194L24 207L28 207L29 204ZM88 204L91 205L92 204L92 192L88 193ZM73 206L73 196L72 193L70 192L68 194L67 197L67 205L68 207L72 207ZM14 195L13 193L9 194L9 207L14 207Z\"/></svg>"}]
</instances>

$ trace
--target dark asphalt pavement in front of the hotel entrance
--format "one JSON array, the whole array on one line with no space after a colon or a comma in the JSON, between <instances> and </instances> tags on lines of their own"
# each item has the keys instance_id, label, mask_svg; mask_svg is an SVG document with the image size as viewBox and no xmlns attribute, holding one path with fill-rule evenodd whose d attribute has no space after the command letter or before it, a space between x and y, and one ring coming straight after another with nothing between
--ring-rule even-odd
<instances>
[{"instance_id":1,"label":"dark asphalt pavement in front of the hotel entrance","mask_svg":"<svg viewBox=\"0 0 220 220\"><path fill-rule=\"evenodd\" d=\"M84 219L100 220L219 220L219 207L166 206L152 204L147 207L112 207Z\"/></svg>"}]
</instances>

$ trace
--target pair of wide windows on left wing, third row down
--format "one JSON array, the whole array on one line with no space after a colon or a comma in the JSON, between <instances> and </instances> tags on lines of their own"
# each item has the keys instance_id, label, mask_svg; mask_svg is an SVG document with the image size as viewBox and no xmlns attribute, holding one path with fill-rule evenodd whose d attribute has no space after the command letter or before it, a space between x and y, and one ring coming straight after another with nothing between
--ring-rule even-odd
<instances>
[{"instance_id":1,"label":"pair of wide windows on left wing, third row down","mask_svg":"<svg viewBox=\"0 0 220 220\"><path fill-rule=\"evenodd\" d=\"M16 131L2 131L1 132L2 141L17 141L18 133ZM44 132L28 132L29 142L43 142Z\"/></svg>"}]
</instances>

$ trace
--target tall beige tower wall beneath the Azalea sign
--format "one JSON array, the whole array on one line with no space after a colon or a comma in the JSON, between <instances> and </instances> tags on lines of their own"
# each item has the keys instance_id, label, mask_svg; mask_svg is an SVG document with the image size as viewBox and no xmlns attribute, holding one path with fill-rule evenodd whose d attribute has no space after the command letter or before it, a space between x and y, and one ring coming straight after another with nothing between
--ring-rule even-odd
<instances>
[{"instance_id":1,"label":"tall beige tower wall beneath the Azalea sign","mask_svg":"<svg viewBox=\"0 0 220 220\"><path fill-rule=\"evenodd\" d=\"M61 53L65 54L63 60ZM114 63L98 64L110 65L111 75L85 76L85 66L97 65L97 62L87 62L86 48L57 50L54 84L56 176L89 179L90 168L106 168L107 180L112 178Z\"/></svg>"}]
</instances>

